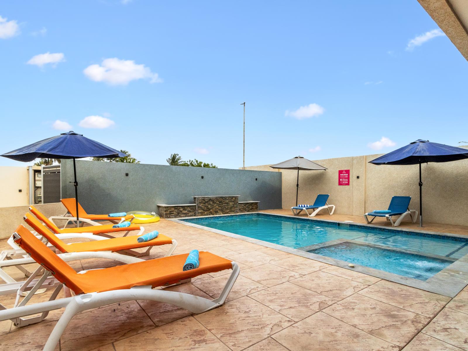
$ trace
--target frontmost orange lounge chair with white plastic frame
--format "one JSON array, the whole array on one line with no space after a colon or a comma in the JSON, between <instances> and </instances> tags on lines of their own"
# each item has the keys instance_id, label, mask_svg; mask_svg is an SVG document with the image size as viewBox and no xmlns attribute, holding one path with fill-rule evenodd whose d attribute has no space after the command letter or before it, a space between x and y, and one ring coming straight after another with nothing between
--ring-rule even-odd
<instances>
[{"instance_id":1,"label":"frontmost orange lounge chair with white plastic frame","mask_svg":"<svg viewBox=\"0 0 468 351\"><path fill-rule=\"evenodd\" d=\"M65 307L64 313L47 339L44 351L55 349L68 323L75 314L82 311L130 300L153 300L170 303L192 313L202 313L224 304L239 275L239 267L236 263L203 251L199 255L200 265L190 271L183 271L183 265L188 256L188 254L183 254L77 273L22 225L13 235L15 242L31 256L29 258L31 263L37 262L41 265L39 269L45 269L43 276L32 287L29 285L30 282L24 282L23 288L29 289L24 300L30 298L31 294L42 287L45 279L50 275L53 275L59 283L49 301L30 306L26 306L21 301L9 309L0 305L0 321L10 319L15 325L28 325L40 322L51 310ZM227 269L232 269L233 272L219 297L214 300L183 292L153 290L154 287L179 284L201 274ZM62 285L66 285L76 295L54 300ZM22 318L37 313L42 314L30 320Z\"/></svg>"}]
</instances>

